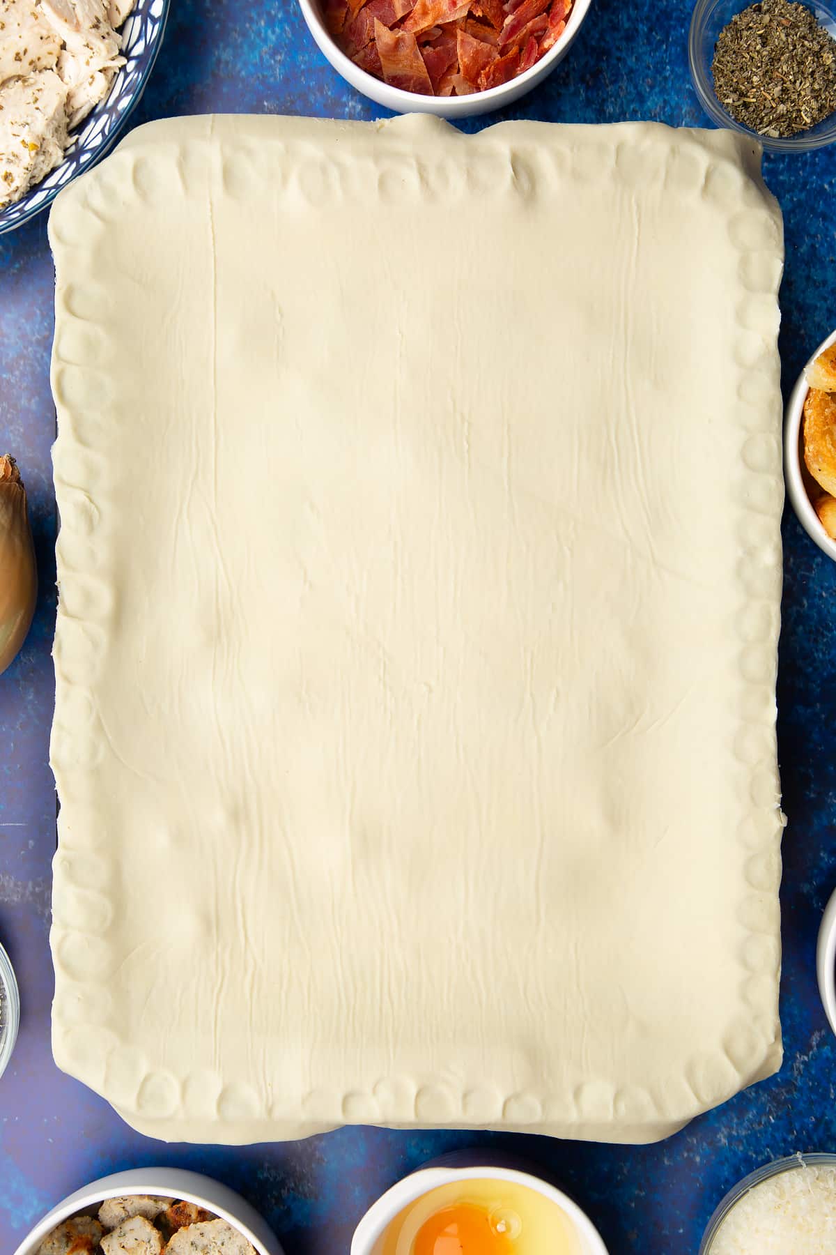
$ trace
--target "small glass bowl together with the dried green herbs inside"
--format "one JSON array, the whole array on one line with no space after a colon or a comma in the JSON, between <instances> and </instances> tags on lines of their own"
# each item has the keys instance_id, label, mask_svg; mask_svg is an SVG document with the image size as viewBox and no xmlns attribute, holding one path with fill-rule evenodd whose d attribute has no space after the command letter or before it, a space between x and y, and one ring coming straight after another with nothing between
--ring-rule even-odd
<instances>
[{"instance_id":1,"label":"small glass bowl together with the dried green herbs inside","mask_svg":"<svg viewBox=\"0 0 836 1255\"><path fill-rule=\"evenodd\" d=\"M688 58L718 127L771 152L836 141L836 0L697 0Z\"/></svg>"}]
</instances>

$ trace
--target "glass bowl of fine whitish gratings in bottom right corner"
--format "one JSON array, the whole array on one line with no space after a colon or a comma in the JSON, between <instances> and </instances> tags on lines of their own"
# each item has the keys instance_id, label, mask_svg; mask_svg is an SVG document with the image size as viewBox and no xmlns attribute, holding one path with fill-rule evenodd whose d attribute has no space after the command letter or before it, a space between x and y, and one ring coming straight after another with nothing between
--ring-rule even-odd
<instances>
[{"instance_id":1,"label":"glass bowl of fine whitish gratings in bottom right corner","mask_svg":"<svg viewBox=\"0 0 836 1255\"><path fill-rule=\"evenodd\" d=\"M790 1155L750 1172L708 1222L699 1255L830 1255L836 1155Z\"/></svg>"}]
</instances>

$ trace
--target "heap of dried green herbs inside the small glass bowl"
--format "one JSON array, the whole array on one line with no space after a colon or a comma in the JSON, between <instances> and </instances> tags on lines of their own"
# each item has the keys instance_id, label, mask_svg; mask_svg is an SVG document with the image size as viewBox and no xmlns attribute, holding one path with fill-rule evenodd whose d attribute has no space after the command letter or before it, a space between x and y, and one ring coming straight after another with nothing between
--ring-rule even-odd
<instances>
[{"instance_id":1,"label":"heap of dried green herbs inside the small glass bowl","mask_svg":"<svg viewBox=\"0 0 836 1255\"><path fill-rule=\"evenodd\" d=\"M738 13L719 33L712 73L723 108L761 136L795 136L836 113L836 39L802 4Z\"/></svg>"}]
</instances>

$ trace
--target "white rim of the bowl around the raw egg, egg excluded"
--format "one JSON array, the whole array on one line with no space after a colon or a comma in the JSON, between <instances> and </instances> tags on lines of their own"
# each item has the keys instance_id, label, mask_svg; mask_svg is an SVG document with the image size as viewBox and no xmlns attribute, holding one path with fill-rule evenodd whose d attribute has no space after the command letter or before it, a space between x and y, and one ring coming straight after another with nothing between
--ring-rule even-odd
<instances>
[{"instance_id":1,"label":"white rim of the bowl around the raw egg, egg excluded","mask_svg":"<svg viewBox=\"0 0 836 1255\"><path fill-rule=\"evenodd\" d=\"M456 1160L459 1156L450 1156ZM466 1156L465 1156L466 1157ZM351 1240L351 1255L375 1255L375 1247L391 1225L392 1220L400 1215L416 1199L421 1199L430 1190L436 1190L441 1185L450 1185L454 1181L514 1181L541 1194L545 1199L560 1207L574 1226L579 1241L579 1255L607 1255L598 1230L589 1217L580 1210L577 1202L567 1197L563 1191L543 1181L530 1172L518 1168L494 1167L486 1163L479 1166L460 1167L455 1162L440 1162L419 1168L411 1176L404 1177L391 1190L387 1190L377 1202L368 1209L363 1219L355 1230Z\"/></svg>"}]
</instances>

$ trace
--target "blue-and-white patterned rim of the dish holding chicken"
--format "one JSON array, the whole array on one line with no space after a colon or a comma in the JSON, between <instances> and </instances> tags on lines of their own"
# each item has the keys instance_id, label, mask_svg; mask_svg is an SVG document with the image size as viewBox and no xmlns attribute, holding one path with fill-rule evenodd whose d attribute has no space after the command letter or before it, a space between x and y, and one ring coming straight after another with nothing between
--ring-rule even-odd
<instances>
[{"instance_id":1,"label":"blue-and-white patterned rim of the dish holding chicken","mask_svg":"<svg viewBox=\"0 0 836 1255\"><path fill-rule=\"evenodd\" d=\"M122 28L122 55L127 64L117 72L109 95L73 132L64 161L36 183L23 200L0 210L0 235L23 226L50 205L70 179L89 169L108 152L123 131L130 110L145 89L154 68L168 20L169 0L137 0Z\"/></svg>"}]
</instances>

